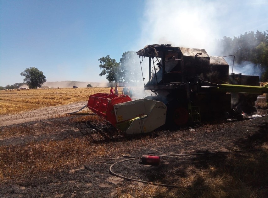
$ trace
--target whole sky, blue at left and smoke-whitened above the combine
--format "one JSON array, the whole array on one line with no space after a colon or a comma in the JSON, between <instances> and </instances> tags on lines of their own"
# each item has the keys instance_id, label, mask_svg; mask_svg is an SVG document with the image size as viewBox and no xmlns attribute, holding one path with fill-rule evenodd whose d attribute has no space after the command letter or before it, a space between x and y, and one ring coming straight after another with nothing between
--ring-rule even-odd
<instances>
[{"instance_id":1,"label":"whole sky, blue at left and smoke-whitened above the combine","mask_svg":"<svg viewBox=\"0 0 268 198\"><path fill-rule=\"evenodd\" d=\"M155 43L217 55L215 39L256 30L268 30L268 0L0 0L0 86L28 67L47 81L106 82L102 56Z\"/></svg>"}]
</instances>

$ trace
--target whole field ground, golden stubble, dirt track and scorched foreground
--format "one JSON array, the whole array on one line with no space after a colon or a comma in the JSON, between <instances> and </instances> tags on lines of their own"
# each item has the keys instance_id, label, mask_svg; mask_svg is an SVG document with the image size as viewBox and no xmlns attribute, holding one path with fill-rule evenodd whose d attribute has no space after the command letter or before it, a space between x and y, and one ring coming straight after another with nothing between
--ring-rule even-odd
<instances>
[{"instance_id":1,"label":"whole field ground, golden stubble, dirt track and scorched foreground","mask_svg":"<svg viewBox=\"0 0 268 198\"><path fill-rule=\"evenodd\" d=\"M101 117L66 114L109 89L0 91L0 197L268 196L267 116L129 137ZM267 114L263 98L256 105ZM209 154L228 151L240 152ZM114 164L143 154L195 155ZM167 186L115 177L112 164L119 175Z\"/></svg>"}]
</instances>

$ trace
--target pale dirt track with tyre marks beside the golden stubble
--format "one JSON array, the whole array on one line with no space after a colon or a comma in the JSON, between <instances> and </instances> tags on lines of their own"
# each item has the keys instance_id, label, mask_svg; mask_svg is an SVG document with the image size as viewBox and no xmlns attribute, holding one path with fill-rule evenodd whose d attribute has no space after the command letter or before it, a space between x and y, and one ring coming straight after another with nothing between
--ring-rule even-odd
<instances>
[{"instance_id":1,"label":"pale dirt track with tyre marks beside the golden stubble","mask_svg":"<svg viewBox=\"0 0 268 198\"><path fill-rule=\"evenodd\" d=\"M49 116L55 114L70 113L79 110L81 107L85 106L87 101L76 102L69 105L62 105L56 107L47 107L42 109L36 109L29 112L23 112L14 115L3 115L0 116L0 126L8 126L12 124L20 124L30 121L47 119Z\"/></svg>"}]
</instances>

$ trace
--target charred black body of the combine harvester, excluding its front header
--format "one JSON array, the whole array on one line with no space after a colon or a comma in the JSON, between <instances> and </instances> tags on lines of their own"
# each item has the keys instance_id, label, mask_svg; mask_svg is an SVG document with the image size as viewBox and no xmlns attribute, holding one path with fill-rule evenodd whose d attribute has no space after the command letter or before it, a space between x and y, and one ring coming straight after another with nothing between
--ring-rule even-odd
<instances>
[{"instance_id":1,"label":"charred black body of the combine harvester, excluding its front header","mask_svg":"<svg viewBox=\"0 0 268 198\"><path fill-rule=\"evenodd\" d=\"M145 90L155 96L148 99L167 106L166 121L178 125L229 115L240 118L256 111L259 76L229 75L223 57L209 56L204 49L173 47L170 44L147 45L137 55L148 57L149 81Z\"/></svg>"}]
</instances>

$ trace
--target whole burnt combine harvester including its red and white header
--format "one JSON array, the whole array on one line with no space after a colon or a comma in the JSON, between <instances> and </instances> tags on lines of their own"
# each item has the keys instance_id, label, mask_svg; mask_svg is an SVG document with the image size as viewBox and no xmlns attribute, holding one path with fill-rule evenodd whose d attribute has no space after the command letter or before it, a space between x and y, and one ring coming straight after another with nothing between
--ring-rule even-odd
<instances>
[{"instance_id":1,"label":"whole burnt combine harvester including its red and white header","mask_svg":"<svg viewBox=\"0 0 268 198\"><path fill-rule=\"evenodd\" d=\"M226 114L242 119L256 111L257 96L268 92L268 87L259 86L259 76L229 75L226 60L209 56L204 49L154 44L137 55L149 59L149 81L144 89L154 96L131 100L127 95L97 93L89 96L86 105L127 134Z\"/></svg>"}]
</instances>

